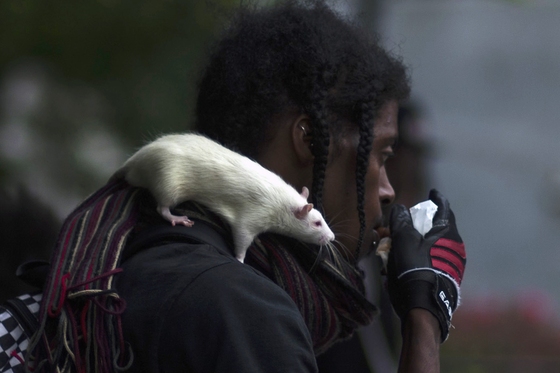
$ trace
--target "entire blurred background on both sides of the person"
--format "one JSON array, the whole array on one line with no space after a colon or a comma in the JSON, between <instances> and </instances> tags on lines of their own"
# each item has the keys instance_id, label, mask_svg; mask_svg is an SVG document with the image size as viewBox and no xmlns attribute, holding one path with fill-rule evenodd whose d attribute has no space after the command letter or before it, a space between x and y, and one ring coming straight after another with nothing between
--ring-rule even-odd
<instances>
[{"instance_id":1,"label":"entire blurred background on both sides of the person","mask_svg":"<svg viewBox=\"0 0 560 373\"><path fill-rule=\"evenodd\" d=\"M189 128L206 48L239 3L0 2L0 297L128 155ZM560 2L330 3L409 66L402 133L425 174L401 201L437 187L467 244L442 370L560 371Z\"/></svg>"}]
</instances>

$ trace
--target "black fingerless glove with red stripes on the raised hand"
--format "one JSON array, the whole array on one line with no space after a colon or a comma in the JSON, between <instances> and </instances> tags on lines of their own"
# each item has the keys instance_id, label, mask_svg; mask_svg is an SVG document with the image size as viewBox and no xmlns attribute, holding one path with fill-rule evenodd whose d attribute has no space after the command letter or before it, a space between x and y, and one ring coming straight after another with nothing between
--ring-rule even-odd
<instances>
[{"instance_id":1,"label":"black fingerless glove with red stripes on the raised hand","mask_svg":"<svg viewBox=\"0 0 560 373\"><path fill-rule=\"evenodd\" d=\"M459 305L467 259L449 202L435 189L430 191L430 199L438 210L424 237L414 228L405 206L395 205L391 210L388 287L401 321L404 323L413 308L426 309L438 319L443 342Z\"/></svg>"}]
</instances>

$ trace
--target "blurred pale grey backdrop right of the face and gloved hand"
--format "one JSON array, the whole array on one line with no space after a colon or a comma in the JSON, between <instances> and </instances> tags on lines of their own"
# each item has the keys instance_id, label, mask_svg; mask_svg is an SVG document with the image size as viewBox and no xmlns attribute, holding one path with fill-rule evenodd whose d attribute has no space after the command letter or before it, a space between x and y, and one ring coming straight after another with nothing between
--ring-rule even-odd
<instances>
[{"instance_id":1,"label":"blurred pale grey backdrop right of the face and gloved hand","mask_svg":"<svg viewBox=\"0 0 560 373\"><path fill-rule=\"evenodd\" d=\"M557 312L560 4L388 1L380 19L427 110L432 184L467 244L463 297Z\"/></svg>"}]
</instances>

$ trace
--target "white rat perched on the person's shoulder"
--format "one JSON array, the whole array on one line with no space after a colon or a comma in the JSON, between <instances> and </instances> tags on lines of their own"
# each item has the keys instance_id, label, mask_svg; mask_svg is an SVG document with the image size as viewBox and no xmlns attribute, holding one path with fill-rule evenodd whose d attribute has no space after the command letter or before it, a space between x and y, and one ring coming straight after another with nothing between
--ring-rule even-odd
<instances>
[{"instance_id":1,"label":"white rat perched on the person's shoulder","mask_svg":"<svg viewBox=\"0 0 560 373\"><path fill-rule=\"evenodd\" d=\"M166 135L145 145L112 177L148 189L158 212L171 224L192 226L171 214L184 201L199 202L229 223L236 258L243 262L264 231L324 245L334 234L321 213L278 175L249 158L197 134Z\"/></svg>"}]
</instances>

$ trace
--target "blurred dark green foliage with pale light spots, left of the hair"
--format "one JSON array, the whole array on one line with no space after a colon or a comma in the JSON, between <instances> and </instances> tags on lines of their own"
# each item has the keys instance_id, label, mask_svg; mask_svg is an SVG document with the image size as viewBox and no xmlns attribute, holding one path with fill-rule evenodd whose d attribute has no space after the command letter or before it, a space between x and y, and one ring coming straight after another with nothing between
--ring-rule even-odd
<instances>
[{"instance_id":1,"label":"blurred dark green foliage with pale light spots, left of the hair","mask_svg":"<svg viewBox=\"0 0 560 373\"><path fill-rule=\"evenodd\" d=\"M134 147L188 129L207 44L238 4L1 1L0 184L65 214Z\"/></svg>"}]
</instances>

